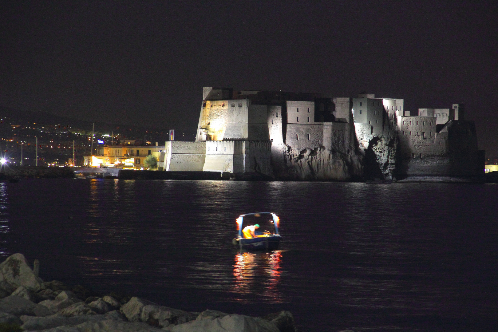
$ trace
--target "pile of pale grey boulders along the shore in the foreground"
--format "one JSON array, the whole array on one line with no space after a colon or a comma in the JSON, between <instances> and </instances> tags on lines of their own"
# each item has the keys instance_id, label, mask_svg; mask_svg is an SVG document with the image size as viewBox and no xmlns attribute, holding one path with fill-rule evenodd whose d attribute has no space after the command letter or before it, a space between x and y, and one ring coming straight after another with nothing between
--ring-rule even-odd
<instances>
[{"instance_id":1,"label":"pile of pale grey boulders along the shore in the foreground","mask_svg":"<svg viewBox=\"0 0 498 332\"><path fill-rule=\"evenodd\" d=\"M0 331L296 332L287 311L259 318L216 310L187 312L137 297L86 297L82 287L44 282L37 270L20 253L0 264Z\"/></svg>"}]
</instances>

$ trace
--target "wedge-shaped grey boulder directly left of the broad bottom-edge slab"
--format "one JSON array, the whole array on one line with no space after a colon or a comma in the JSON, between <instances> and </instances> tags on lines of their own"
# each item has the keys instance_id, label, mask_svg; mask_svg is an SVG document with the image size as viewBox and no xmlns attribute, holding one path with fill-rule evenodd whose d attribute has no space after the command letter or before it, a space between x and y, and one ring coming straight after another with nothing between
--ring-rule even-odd
<instances>
[{"instance_id":1,"label":"wedge-shaped grey boulder directly left of the broad bottom-edge slab","mask_svg":"<svg viewBox=\"0 0 498 332\"><path fill-rule=\"evenodd\" d=\"M148 325L165 328L170 325L183 324L196 319L199 313L173 309L158 305L146 305L140 314L140 321Z\"/></svg>"}]
</instances>

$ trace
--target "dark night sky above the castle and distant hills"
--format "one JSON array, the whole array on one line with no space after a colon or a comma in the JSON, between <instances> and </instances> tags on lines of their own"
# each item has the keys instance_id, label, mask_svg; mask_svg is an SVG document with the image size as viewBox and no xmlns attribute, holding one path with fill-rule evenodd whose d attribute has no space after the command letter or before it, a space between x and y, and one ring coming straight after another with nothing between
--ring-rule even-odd
<instances>
[{"instance_id":1,"label":"dark night sky above the castle and distant hills","mask_svg":"<svg viewBox=\"0 0 498 332\"><path fill-rule=\"evenodd\" d=\"M195 133L203 86L466 105L498 157L496 1L12 1L0 105ZM412 113L414 114L414 113Z\"/></svg>"}]
</instances>

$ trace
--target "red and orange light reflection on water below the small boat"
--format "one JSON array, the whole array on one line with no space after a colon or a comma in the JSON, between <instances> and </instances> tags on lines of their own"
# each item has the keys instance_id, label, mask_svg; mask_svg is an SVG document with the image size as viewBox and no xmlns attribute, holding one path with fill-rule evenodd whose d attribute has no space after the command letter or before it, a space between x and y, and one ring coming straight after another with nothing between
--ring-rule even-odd
<instances>
[{"instance_id":1,"label":"red and orange light reflection on water below the small boat","mask_svg":"<svg viewBox=\"0 0 498 332\"><path fill-rule=\"evenodd\" d=\"M239 252L234 259L234 284L231 292L238 302L249 302L257 295L264 302L282 303L278 289L282 252Z\"/></svg>"}]
</instances>

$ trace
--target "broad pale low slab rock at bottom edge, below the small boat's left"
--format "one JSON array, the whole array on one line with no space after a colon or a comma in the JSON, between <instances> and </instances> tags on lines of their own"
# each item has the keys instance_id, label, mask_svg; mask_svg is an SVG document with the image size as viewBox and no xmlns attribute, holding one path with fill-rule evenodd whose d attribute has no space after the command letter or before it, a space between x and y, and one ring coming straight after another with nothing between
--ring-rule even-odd
<instances>
[{"instance_id":1,"label":"broad pale low slab rock at bottom edge, below the small boat's left","mask_svg":"<svg viewBox=\"0 0 498 332\"><path fill-rule=\"evenodd\" d=\"M268 321L245 315L227 315L218 318L206 318L179 324L170 329L171 332L279 332L278 328Z\"/></svg>"}]
</instances>

